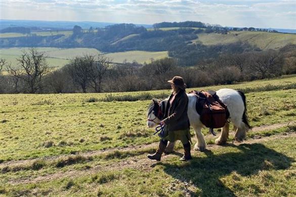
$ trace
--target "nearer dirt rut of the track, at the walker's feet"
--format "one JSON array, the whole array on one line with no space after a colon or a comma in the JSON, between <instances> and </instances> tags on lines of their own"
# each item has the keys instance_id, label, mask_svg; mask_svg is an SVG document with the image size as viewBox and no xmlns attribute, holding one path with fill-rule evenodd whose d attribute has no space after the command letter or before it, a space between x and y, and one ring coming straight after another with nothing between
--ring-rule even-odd
<instances>
[{"instance_id":1,"label":"nearer dirt rut of the track, at the walker's feet","mask_svg":"<svg viewBox=\"0 0 296 197\"><path fill-rule=\"evenodd\" d=\"M272 135L269 137L262 137L260 139L249 139L249 140L245 140L242 143L247 143L247 144L252 144L252 143L259 143L259 142L265 142L265 141L269 141L272 139L279 139L279 138L286 138L286 137L296 137L296 133L295 132L289 132L289 133L285 133L285 134L276 134L276 135ZM241 144L239 142L234 142L234 144ZM222 147L216 144L212 144L212 145L207 145L207 150L215 150L215 149L221 149ZM192 152L192 156L193 157L198 157L198 155L201 154L201 152L196 152L193 151ZM162 156L161 160L162 162L166 161L169 158L179 158L180 154L176 153L176 154L171 154L171 155L164 155ZM51 180L55 180L55 179L59 179L59 178L65 178L65 177L71 177L71 178L75 178L75 177L79 177L79 176L87 176L87 175L92 175L98 172L104 172L104 171L112 171L112 170L121 170L124 168L132 168L132 169L138 169L138 170L142 170L142 171L149 171L151 170L155 164L157 162L156 161L152 161L152 160L148 160L146 158L146 156L135 156L135 157L130 157L127 158L124 161L119 161L119 162L113 162L107 165L96 165L91 169L88 170L69 170L66 172L63 172L62 170L60 172L56 172L54 174L49 174L49 175L44 175L44 176L38 176L38 177L26 177L23 179L17 179L17 180L10 180L8 183L9 184L27 184L27 183L36 183L39 181L51 181ZM188 184L188 183L183 183L183 184ZM188 186L194 186L194 185L188 185Z\"/></svg>"}]
</instances>

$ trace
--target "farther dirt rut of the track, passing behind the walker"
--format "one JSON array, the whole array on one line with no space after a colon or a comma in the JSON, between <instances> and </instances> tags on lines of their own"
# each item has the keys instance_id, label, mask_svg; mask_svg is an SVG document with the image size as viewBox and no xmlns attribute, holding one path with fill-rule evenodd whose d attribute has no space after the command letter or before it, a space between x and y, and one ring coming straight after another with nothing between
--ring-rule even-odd
<instances>
[{"instance_id":1,"label":"farther dirt rut of the track, passing behind the walker","mask_svg":"<svg viewBox=\"0 0 296 197\"><path fill-rule=\"evenodd\" d=\"M253 127L252 131L264 131L264 130L271 130L271 129L277 129L289 124L295 124L295 122L288 122L288 123L277 123L273 125L266 125L266 126L260 126L260 127ZM230 133L231 134L231 133ZM217 137L217 136L215 136ZM213 138L212 135L206 135L205 138ZM108 154L112 153L114 151L120 151L120 152L125 152L125 151L133 151L133 150L139 150L139 149L149 149L149 148L155 148L158 145L158 142L155 143L150 143L150 144L143 144L143 145L136 145L136 146L128 146L128 147L123 147L123 148L112 148L112 149L106 149L106 150L101 150L101 151L91 151L91 152L85 152L85 153L79 153L78 155L83 156L83 157L94 157L94 156L99 156L102 154ZM208 145L207 145L208 146ZM28 160L13 160L9 162L4 162L0 164L0 169L11 166L11 165L30 165L34 161L44 159L47 162L53 162L62 158L65 158L69 155L59 155L59 156L53 156L53 157L44 157L44 158L37 158L37 159L28 159Z\"/></svg>"}]
</instances>

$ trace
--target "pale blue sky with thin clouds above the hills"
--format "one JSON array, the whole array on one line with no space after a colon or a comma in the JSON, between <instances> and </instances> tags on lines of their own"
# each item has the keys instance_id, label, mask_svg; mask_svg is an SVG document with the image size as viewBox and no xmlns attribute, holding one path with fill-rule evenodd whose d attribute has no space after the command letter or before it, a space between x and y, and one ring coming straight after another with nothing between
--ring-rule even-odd
<instances>
[{"instance_id":1,"label":"pale blue sky with thin clouds above the hills","mask_svg":"<svg viewBox=\"0 0 296 197\"><path fill-rule=\"evenodd\" d=\"M296 29L296 0L0 0L1 19L154 24L201 21L229 27Z\"/></svg>"}]
</instances>

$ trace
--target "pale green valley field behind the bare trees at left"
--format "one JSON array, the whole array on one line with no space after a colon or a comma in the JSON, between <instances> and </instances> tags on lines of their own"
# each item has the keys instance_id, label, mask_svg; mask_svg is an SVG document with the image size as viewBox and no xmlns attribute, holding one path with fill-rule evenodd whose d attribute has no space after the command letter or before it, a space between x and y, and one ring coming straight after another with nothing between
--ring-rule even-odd
<instances>
[{"instance_id":1,"label":"pale green valley field behind the bare trees at left","mask_svg":"<svg viewBox=\"0 0 296 197\"><path fill-rule=\"evenodd\" d=\"M61 68L65 64L69 63L69 60L84 54L100 54L101 52L95 48L54 48L54 47L37 47L39 52L45 52L47 55L47 61L50 66ZM12 65L16 65L16 59L28 48L2 48L1 57L6 59ZM151 58L158 60L168 57L167 52L144 52L144 51L129 51L120 53L105 54L108 58L111 58L115 63L122 63L124 60L133 62L136 60L139 63L150 62Z\"/></svg>"}]
</instances>

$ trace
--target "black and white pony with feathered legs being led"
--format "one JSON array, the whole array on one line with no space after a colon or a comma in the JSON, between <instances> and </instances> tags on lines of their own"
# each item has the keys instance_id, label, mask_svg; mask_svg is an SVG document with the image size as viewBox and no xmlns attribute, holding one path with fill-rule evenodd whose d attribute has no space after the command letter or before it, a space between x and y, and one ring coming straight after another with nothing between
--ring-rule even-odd
<instances>
[{"instance_id":1,"label":"black and white pony with feathered legs being led","mask_svg":"<svg viewBox=\"0 0 296 197\"><path fill-rule=\"evenodd\" d=\"M230 122L236 127L234 138L237 141L242 141L245 138L246 131L250 129L247 116L246 116L246 101L245 95L241 91L237 91L234 89L220 89L217 92L220 100L227 105L227 109L229 111ZM196 104L196 96L194 94L187 94L189 98L188 102L188 117L190 121L190 125L193 127L195 136L197 139L196 144L194 145L194 150L196 151L204 151L205 150L205 140L203 134L201 133L201 129L204 125L200 121L200 115L196 112L195 104ZM162 119L162 112L164 112L165 106L167 103L166 100L160 102L159 100L153 99L152 103L148 107L147 111L147 126L149 128L155 127L159 124ZM226 143L229 134L229 123L226 123L222 128L221 135L216 139L216 143L221 145ZM175 142L168 143L166 147L166 152L174 151Z\"/></svg>"}]
</instances>

